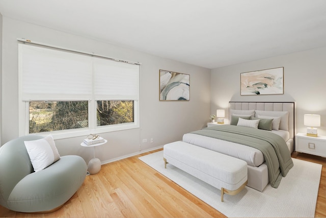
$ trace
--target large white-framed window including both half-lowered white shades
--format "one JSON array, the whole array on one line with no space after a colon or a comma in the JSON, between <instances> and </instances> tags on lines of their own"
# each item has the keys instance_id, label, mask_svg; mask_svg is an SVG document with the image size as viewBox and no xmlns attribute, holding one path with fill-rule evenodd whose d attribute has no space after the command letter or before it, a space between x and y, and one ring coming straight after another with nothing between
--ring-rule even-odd
<instances>
[{"instance_id":1,"label":"large white-framed window including both half-lowered white shades","mask_svg":"<svg viewBox=\"0 0 326 218\"><path fill-rule=\"evenodd\" d=\"M139 127L139 64L19 44L19 134Z\"/></svg>"}]
</instances>

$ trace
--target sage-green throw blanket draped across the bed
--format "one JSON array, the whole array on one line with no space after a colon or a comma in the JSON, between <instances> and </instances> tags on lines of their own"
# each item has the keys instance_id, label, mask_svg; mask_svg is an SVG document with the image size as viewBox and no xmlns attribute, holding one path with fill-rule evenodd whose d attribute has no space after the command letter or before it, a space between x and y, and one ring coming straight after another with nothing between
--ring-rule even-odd
<instances>
[{"instance_id":1,"label":"sage-green throw blanket draped across the bed","mask_svg":"<svg viewBox=\"0 0 326 218\"><path fill-rule=\"evenodd\" d=\"M282 176L285 177L293 166L291 154L284 139L272 132L249 127L221 125L191 132L244 144L260 150L268 167L269 182L277 188Z\"/></svg>"}]
</instances>

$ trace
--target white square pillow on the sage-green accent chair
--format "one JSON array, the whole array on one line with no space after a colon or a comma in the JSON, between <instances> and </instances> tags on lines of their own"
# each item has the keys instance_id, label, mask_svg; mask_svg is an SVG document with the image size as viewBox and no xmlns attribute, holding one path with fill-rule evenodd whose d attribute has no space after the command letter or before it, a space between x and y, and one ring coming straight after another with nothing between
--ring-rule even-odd
<instances>
[{"instance_id":1,"label":"white square pillow on the sage-green accent chair","mask_svg":"<svg viewBox=\"0 0 326 218\"><path fill-rule=\"evenodd\" d=\"M55 141L51 135L44 138L24 141L35 172L41 171L60 159Z\"/></svg>"}]
</instances>

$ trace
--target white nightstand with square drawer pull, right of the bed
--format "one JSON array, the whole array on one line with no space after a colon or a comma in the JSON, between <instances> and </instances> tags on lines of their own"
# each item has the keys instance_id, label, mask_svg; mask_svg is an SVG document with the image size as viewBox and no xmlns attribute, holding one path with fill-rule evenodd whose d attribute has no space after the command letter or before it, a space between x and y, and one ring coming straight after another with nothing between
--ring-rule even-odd
<instances>
[{"instance_id":1,"label":"white nightstand with square drawer pull, right of the bed","mask_svg":"<svg viewBox=\"0 0 326 218\"><path fill-rule=\"evenodd\" d=\"M295 151L326 157L326 136L311 137L306 133L297 133Z\"/></svg>"}]
</instances>

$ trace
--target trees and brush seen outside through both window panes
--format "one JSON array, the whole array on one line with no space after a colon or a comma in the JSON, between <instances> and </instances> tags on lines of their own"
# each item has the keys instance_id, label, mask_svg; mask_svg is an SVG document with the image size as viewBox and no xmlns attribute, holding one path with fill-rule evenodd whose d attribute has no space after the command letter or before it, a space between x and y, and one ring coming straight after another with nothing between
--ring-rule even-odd
<instances>
[{"instance_id":1,"label":"trees and brush seen outside through both window panes","mask_svg":"<svg viewBox=\"0 0 326 218\"><path fill-rule=\"evenodd\" d=\"M133 101L97 101L97 126L134 122ZM88 127L88 101L31 101L30 133Z\"/></svg>"}]
</instances>

